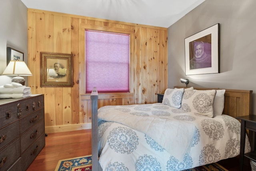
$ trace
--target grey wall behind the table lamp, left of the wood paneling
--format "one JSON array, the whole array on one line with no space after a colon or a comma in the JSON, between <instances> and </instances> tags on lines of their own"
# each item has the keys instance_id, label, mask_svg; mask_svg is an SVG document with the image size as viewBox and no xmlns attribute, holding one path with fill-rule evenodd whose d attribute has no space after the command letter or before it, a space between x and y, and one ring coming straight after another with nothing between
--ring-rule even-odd
<instances>
[{"instance_id":1,"label":"grey wall behind the table lamp, left of the wood paneling","mask_svg":"<svg viewBox=\"0 0 256 171\"><path fill-rule=\"evenodd\" d=\"M0 85L11 82L12 77L2 76L6 68L6 47L24 52L28 64L27 7L20 0L0 0ZM26 85L28 83L27 77Z\"/></svg>"}]
</instances>

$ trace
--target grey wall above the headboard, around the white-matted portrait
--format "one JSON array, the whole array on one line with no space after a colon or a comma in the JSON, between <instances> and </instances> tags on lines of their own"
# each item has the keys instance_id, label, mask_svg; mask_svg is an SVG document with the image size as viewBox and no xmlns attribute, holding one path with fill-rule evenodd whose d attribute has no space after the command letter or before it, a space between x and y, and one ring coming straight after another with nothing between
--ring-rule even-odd
<instances>
[{"instance_id":1,"label":"grey wall above the headboard, around the white-matted portrait","mask_svg":"<svg viewBox=\"0 0 256 171\"><path fill-rule=\"evenodd\" d=\"M206 0L168 28L168 87L253 90L256 111L256 0ZM184 39L220 23L220 73L185 76Z\"/></svg>"}]
</instances>

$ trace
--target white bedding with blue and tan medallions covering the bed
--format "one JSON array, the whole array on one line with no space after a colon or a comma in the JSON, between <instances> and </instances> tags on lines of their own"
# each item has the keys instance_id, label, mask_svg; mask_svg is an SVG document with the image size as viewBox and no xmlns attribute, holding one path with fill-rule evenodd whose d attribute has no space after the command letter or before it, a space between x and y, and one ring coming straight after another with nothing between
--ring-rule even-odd
<instances>
[{"instance_id":1,"label":"white bedding with blue and tan medallions covering the bed","mask_svg":"<svg viewBox=\"0 0 256 171\"><path fill-rule=\"evenodd\" d=\"M104 106L98 141L104 171L180 171L239 155L240 122L163 103Z\"/></svg>"}]
</instances>

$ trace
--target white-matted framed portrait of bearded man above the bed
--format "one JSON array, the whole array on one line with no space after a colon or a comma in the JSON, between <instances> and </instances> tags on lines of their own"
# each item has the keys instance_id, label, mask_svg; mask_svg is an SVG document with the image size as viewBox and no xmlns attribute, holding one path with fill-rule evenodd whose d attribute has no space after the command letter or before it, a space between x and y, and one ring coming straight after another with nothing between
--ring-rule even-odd
<instances>
[{"instance_id":1,"label":"white-matted framed portrait of bearded man above the bed","mask_svg":"<svg viewBox=\"0 0 256 171\"><path fill-rule=\"evenodd\" d=\"M220 24L185 38L185 74L220 73Z\"/></svg>"}]
</instances>

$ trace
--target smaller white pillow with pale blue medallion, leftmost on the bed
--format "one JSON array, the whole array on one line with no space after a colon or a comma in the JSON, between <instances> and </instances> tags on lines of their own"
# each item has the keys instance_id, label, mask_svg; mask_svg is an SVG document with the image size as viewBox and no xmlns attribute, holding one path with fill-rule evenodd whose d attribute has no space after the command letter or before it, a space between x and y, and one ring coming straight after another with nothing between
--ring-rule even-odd
<instances>
[{"instance_id":1,"label":"smaller white pillow with pale blue medallion, leftmost on the bed","mask_svg":"<svg viewBox=\"0 0 256 171\"><path fill-rule=\"evenodd\" d=\"M181 107L181 100L184 93L184 88L166 89L162 104L169 105L179 109Z\"/></svg>"}]
</instances>

